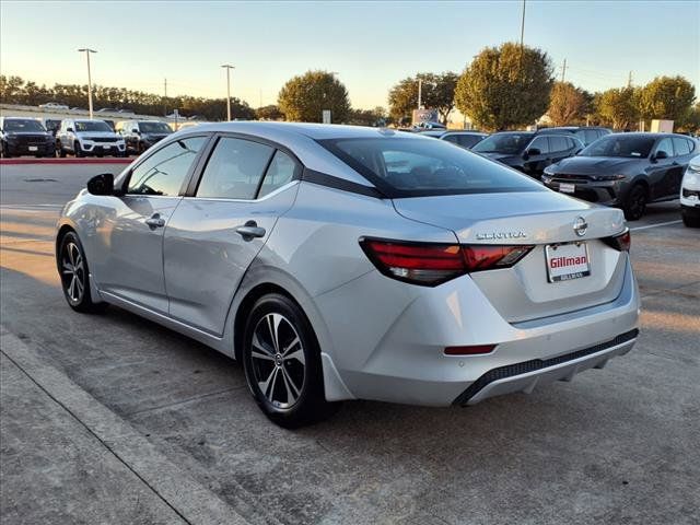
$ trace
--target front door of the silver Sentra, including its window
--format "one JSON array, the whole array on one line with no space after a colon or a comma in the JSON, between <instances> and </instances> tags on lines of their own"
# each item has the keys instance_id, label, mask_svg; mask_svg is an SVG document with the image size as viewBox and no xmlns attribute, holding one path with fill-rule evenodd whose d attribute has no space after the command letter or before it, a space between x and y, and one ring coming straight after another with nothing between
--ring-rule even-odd
<instances>
[{"instance_id":1,"label":"front door of the silver Sentra, including its window","mask_svg":"<svg viewBox=\"0 0 700 525\"><path fill-rule=\"evenodd\" d=\"M91 265L102 291L167 314L163 232L207 140L207 136L175 140L126 176L125 194L97 228Z\"/></svg>"}]
</instances>

